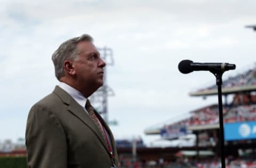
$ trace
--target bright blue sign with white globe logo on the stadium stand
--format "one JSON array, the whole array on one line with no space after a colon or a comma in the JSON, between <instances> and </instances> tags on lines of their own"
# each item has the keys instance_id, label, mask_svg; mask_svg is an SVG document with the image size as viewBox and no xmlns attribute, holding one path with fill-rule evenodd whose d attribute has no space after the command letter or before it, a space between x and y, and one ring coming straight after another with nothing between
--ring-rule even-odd
<instances>
[{"instance_id":1,"label":"bright blue sign with white globe logo on the stadium stand","mask_svg":"<svg viewBox=\"0 0 256 168\"><path fill-rule=\"evenodd\" d=\"M256 138L256 121L225 123L225 140L242 140Z\"/></svg>"}]
</instances>

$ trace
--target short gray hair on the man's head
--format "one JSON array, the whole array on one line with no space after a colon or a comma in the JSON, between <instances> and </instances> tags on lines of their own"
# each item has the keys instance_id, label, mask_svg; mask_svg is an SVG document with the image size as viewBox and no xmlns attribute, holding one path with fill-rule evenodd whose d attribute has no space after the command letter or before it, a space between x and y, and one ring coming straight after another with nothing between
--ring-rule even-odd
<instances>
[{"instance_id":1,"label":"short gray hair on the man's head","mask_svg":"<svg viewBox=\"0 0 256 168\"><path fill-rule=\"evenodd\" d=\"M78 55L76 45L80 41L93 41L90 35L82 35L80 37L71 38L62 43L59 48L52 54L52 62L55 68L55 76L58 80L65 76L63 63L65 60L75 60Z\"/></svg>"}]
</instances>

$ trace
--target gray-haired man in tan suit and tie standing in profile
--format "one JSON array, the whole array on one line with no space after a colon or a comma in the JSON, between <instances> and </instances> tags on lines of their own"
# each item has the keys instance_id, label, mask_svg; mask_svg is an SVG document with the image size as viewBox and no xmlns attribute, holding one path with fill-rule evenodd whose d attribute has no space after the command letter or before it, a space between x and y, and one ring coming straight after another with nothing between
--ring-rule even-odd
<instances>
[{"instance_id":1,"label":"gray-haired man in tan suit and tie standing in profile","mask_svg":"<svg viewBox=\"0 0 256 168\"><path fill-rule=\"evenodd\" d=\"M103 85L106 65L89 35L67 40L52 55L60 81L28 115L28 167L109 168L118 164L114 137L87 97Z\"/></svg>"}]
</instances>

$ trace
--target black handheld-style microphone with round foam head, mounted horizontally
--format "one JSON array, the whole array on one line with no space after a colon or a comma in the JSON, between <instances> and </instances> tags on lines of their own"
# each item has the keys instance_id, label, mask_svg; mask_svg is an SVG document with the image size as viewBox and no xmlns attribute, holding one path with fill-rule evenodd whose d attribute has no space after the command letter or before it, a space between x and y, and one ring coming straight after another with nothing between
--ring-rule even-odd
<instances>
[{"instance_id":1,"label":"black handheld-style microphone with round foam head, mounted horizontally","mask_svg":"<svg viewBox=\"0 0 256 168\"><path fill-rule=\"evenodd\" d=\"M181 73L185 74L193 71L225 72L236 69L236 65L229 63L197 63L190 60L182 60L178 68Z\"/></svg>"}]
</instances>

